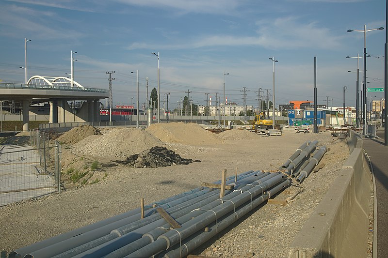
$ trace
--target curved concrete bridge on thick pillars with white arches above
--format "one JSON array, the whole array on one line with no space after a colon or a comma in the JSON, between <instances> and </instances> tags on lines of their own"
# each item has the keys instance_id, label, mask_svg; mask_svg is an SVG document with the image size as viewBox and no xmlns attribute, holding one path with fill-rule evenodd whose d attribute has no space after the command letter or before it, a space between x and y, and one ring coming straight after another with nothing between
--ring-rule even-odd
<instances>
[{"instance_id":1,"label":"curved concrete bridge on thick pillars with white arches above","mask_svg":"<svg viewBox=\"0 0 388 258\"><path fill-rule=\"evenodd\" d=\"M76 114L79 121L100 121L100 99L108 98L108 90L86 88L67 77L32 76L27 84L0 83L0 100L22 102L23 131L29 130L29 102L49 102L49 122L66 122L74 117L67 101L84 100Z\"/></svg>"}]
</instances>

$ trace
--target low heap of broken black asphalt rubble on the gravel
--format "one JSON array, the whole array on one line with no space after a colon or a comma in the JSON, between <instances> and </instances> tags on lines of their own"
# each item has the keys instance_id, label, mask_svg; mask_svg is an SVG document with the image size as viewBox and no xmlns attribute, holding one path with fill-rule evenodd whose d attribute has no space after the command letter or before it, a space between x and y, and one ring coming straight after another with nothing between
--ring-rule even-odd
<instances>
[{"instance_id":1,"label":"low heap of broken black asphalt rubble on the gravel","mask_svg":"<svg viewBox=\"0 0 388 258\"><path fill-rule=\"evenodd\" d=\"M168 167L172 165L188 165L199 160L184 159L174 151L165 147L152 147L140 154L130 155L126 160L115 161L129 167Z\"/></svg>"}]
</instances>

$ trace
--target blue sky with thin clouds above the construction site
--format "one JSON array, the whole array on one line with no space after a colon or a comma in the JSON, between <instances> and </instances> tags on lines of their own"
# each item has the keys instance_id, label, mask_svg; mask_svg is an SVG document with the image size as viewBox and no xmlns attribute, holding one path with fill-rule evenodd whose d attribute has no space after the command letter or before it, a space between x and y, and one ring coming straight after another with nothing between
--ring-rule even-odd
<instances>
[{"instance_id":1,"label":"blue sky with thin clouds above the construction site","mask_svg":"<svg viewBox=\"0 0 388 258\"><path fill-rule=\"evenodd\" d=\"M357 59L363 56L364 33L385 27L384 0L1 0L0 80L24 83L25 38L28 77L66 76L71 51L74 80L84 87L108 89L113 106L140 103L157 88L159 52L161 101L170 109L187 92L194 104L206 94L227 102L257 106L259 88L275 105L317 100L342 106L356 104ZM367 87L384 87L386 30L366 33ZM360 89L363 59L359 59ZM131 73L133 72L133 73ZM383 93L368 93L370 99ZM133 98L133 99L132 99ZM105 105L105 100L102 101ZM163 104L161 104L163 106Z\"/></svg>"}]
</instances>

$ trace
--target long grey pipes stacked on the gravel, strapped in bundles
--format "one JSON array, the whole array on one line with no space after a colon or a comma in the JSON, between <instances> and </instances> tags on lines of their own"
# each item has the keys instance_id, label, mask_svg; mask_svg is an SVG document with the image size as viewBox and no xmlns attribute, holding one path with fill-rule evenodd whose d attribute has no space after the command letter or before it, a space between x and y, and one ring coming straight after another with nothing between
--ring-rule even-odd
<instances>
[{"instance_id":1,"label":"long grey pipes stacked on the gravel, strapped in bundles","mask_svg":"<svg viewBox=\"0 0 388 258\"><path fill-rule=\"evenodd\" d=\"M326 151L322 147L314 152L317 144L305 142L279 169L302 182ZM250 170L236 181L228 177L226 184L234 185L234 190L226 190L222 198L220 189L198 187L146 205L144 219L138 208L17 249L9 258L184 257L288 187L291 179L284 173ZM165 209L181 228L171 228L156 207Z\"/></svg>"}]
</instances>

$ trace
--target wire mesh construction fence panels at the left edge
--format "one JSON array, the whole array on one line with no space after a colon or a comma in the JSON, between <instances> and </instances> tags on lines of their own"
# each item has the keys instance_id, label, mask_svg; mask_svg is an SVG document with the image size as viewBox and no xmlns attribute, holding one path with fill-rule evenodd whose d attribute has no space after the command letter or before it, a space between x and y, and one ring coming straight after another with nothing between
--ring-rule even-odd
<instances>
[{"instance_id":1,"label":"wire mesh construction fence panels at the left edge","mask_svg":"<svg viewBox=\"0 0 388 258\"><path fill-rule=\"evenodd\" d=\"M31 131L31 145L0 147L0 206L61 192L61 145Z\"/></svg>"}]
</instances>

